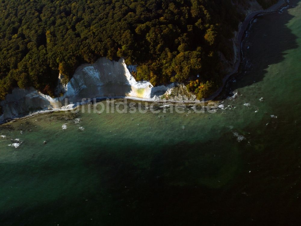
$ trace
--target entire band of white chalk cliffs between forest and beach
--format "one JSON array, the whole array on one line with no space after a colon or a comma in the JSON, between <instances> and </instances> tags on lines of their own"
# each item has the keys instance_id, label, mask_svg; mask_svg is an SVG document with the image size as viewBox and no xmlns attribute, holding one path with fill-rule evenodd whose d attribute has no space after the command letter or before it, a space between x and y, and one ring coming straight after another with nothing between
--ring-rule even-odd
<instances>
[{"instance_id":1,"label":"entire band of white chalk cliffs between forest and beach","mask_svg":"<svg viewBox=\"0 0 301 226\"><path fill-rule=\"evenodd\" d=\"M170 100L195 100L195 96L189 94L183 84L154 87L147 81L136 82L130 71L135 71L135 66L127 66L124 59L110 61L103 57L94 64L79 66L68 84L63 85L59 80L57 98L33 88L15 88L0 102L3 110L0 122L39 110L62 108L71 102L81 102L83 98L130 97L149 101L164 97Z\"/></svg>"}]
</instances>

